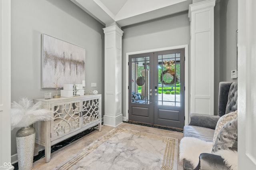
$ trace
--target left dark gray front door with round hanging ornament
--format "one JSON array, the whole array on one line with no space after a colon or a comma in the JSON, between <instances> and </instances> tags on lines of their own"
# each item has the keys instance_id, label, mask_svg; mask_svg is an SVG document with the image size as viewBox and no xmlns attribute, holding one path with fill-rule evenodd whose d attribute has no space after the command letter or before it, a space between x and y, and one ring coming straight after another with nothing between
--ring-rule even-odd
<instances>
[{"instance_id":1,"label":"left dark gray front door with round hanging ornament","mask_svg":"<svg viewBox=\"0 0 256 170\"><path fill-rule=\"evenodd\" d=\"M153 53L129 55L129 120L153 124Z\"/></svg>"}]
</instances>

